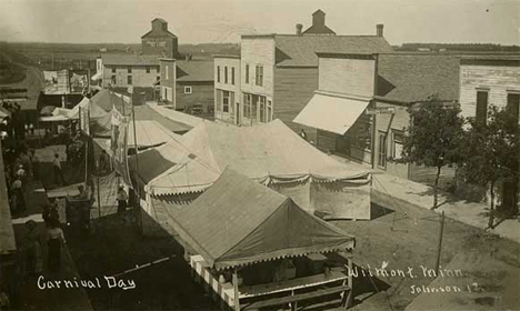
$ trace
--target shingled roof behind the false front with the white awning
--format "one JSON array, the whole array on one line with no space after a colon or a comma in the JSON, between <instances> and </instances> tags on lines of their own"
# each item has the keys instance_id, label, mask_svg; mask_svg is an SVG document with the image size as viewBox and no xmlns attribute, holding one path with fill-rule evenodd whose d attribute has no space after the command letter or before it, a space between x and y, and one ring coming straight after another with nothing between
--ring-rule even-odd
<instances>
[{"instance_id":1,"label":"shingled roof behind the false front with the white awning","mask_svg":"<svg viewBox=\"0 0 520 311\"><path fill-rule=\"evenodd\" d=\"M459 99L459 59L453 56L380 54L377 98L400 102Z\"/></svg>"}]
</instances>

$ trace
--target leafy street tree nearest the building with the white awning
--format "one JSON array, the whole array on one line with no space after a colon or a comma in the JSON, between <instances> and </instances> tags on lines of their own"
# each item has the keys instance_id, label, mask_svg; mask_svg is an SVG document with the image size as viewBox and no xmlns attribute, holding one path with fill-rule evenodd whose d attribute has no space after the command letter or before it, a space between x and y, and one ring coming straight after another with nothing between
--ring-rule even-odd
<instances>
[{"instance_id":1,"label":"leafy street tree nearest the building with the white awning","mask_svg":"<svg viewBox=\"0 0 520 311\"><path fill-rule=\"evenodd\" d=\"M437 168L433 184L433 207L438 207L441 169L460 160L463 118L460 108L430 96L423 103L409 109L411 126L404 137L401 162Z\"/></svg>"}]
</instances>

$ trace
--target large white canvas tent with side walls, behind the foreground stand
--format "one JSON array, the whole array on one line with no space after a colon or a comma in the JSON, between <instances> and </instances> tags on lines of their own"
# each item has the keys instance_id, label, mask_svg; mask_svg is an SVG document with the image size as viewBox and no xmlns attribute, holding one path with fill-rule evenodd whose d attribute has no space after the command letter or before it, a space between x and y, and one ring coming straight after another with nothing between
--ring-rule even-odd
<instances>
[{"instance_id":1,"label":"large white canvas tent with side walls, behind the foreground stand","mask_svg":"<svg viewBox=\"0 0 520 311\"><path fill-rule=\"evenodd\" d=\"M161 201L168 201L169 208L178 201L181 208L229 167L292 198L311 213L328 219L370 219L370 172L332 159L280 120L248 128L203 122L181 140L139 157L140 182L151 215L166 208ZM147 175L149 165L169 169Z\"/></svg>"}]
</instances>

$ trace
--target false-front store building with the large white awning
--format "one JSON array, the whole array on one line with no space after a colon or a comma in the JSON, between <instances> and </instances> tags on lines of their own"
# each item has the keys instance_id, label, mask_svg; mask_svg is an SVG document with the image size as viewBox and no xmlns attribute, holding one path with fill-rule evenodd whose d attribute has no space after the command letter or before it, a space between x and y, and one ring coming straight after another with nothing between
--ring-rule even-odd
<instances>
[{"instance_id":1,"label":"false-front store building with the large white awning","mask_svg":"<svg viewBox=\"0 0 520 311\"><path fill-rule=\"evenodd\" d=\"M456 103L458 58L443 54L319 53L319 90L294 122L318 129L317 146L376 170L429 183L433 168L398 163L409 109L438 94ZM441 182L454 171L444 169Z\"/></svg>"}]
</instances>

